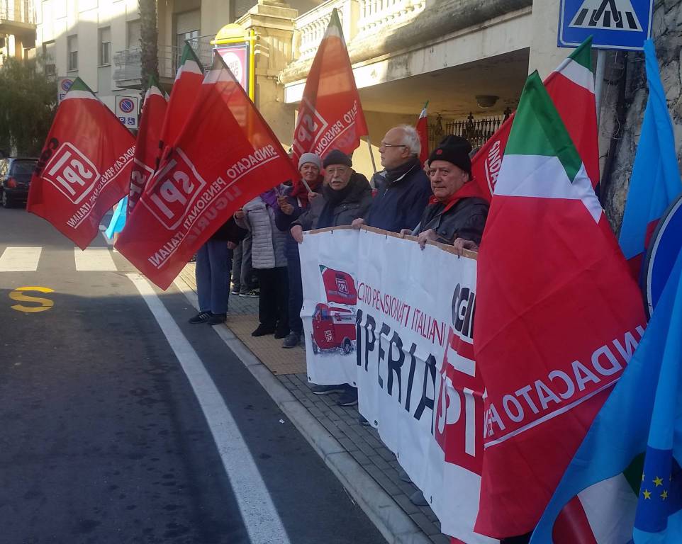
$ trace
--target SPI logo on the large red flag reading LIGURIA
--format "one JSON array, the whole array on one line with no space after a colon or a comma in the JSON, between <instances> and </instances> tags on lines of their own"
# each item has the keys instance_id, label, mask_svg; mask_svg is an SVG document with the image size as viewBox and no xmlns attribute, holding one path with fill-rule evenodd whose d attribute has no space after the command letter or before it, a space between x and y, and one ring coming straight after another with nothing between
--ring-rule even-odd
<instances>
[{"instance_id":1,"label":"SPI logo on the large red flag reading LIGURIA","mask_svg":"<svg viewBox=\"0 0 682 544\"><path fill-rule=\"evenodd\" d=\"M169 230L177 229L186 209L194 203L206 181L199 175L182 149L177 148L178 159L171 159L150 181L152 190L143 205Z\"/></svg>"}]
</instances>

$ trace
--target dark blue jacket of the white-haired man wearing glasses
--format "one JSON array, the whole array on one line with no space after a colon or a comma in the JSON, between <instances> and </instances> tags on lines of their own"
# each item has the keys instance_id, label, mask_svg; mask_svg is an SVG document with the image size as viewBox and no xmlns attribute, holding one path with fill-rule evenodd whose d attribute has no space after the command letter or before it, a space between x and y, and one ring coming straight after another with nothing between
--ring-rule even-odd
<instances>
[{"instance_id":1,"label":"dark blue jacket of the white-haired man wearing glasses","mask_svg":"<svg viewBox=\"0 0 682 544\"><path fill-rule=\"evenodd\" d=\"M396 170L386 171L386 181L372 199L365 222L370 227L400 232L414 229L429 203L431 183L414 158Z\"/></svg>"}]
</instances>

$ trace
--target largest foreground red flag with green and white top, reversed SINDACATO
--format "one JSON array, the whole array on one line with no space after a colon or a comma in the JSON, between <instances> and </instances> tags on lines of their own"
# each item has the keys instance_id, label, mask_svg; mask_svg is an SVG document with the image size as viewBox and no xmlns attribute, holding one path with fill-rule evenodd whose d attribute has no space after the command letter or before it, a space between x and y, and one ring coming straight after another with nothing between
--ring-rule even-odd
<instances>
[{"instance_id":1,"label":"largest foreground red flag with green and white top, reversed SINDACATO","mask_svg":"<svg viewBox=\"0 0 682 544\"><path fill-rule=\"evenodd\" d=\"M505 147L477 291L474 352L486 412L475 531L502 538L535 527L646 323L537 72Z\"/></svg>"}]
</instances>

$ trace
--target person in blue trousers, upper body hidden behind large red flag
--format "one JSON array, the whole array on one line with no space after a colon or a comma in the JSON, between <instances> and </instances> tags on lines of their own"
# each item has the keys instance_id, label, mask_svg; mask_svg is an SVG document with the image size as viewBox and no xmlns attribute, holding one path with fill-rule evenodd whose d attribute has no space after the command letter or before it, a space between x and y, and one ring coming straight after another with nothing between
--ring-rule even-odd
<instances>
[{"instance_id":1,"label":"person in blue trousers, upper body hidden behind large red flag","mask_svg":"<svg viewBox=\"0 0 682 544\"><path fill-rule=\"evenodd\" d=\"M191 324L224 323L230 296L230 270L233 250L245 236L234 217L225 222L196 252L196 295L199 313L189 319Z\"/></svg>"}]
</instances>

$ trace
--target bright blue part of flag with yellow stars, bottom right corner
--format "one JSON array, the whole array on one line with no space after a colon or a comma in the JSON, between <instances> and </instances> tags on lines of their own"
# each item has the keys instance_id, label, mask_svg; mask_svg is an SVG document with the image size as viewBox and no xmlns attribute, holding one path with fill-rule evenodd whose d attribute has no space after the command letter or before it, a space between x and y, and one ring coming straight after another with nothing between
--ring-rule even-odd
<instances>
[{"instance_id":1,"label":"bright blue part of flag with yellow stars, bottom right corner","mask_svg":"<svg viewBox=\"0 0 682 544\"><path fill-rule=\"evenodd\" d=\"M634 523L635 544L682 543L681 366L682 252L642 341L561 478L530 544L551 544L564 505L624 471L637 494L637 511L635 519L614 520L613 527ZM642 458L644 468L637 470ZM605 495L600 508L622 512L618 500ZM627 542L613 538L614 533L597 539L598 544Z\"/></svg>"}]
</instances>

